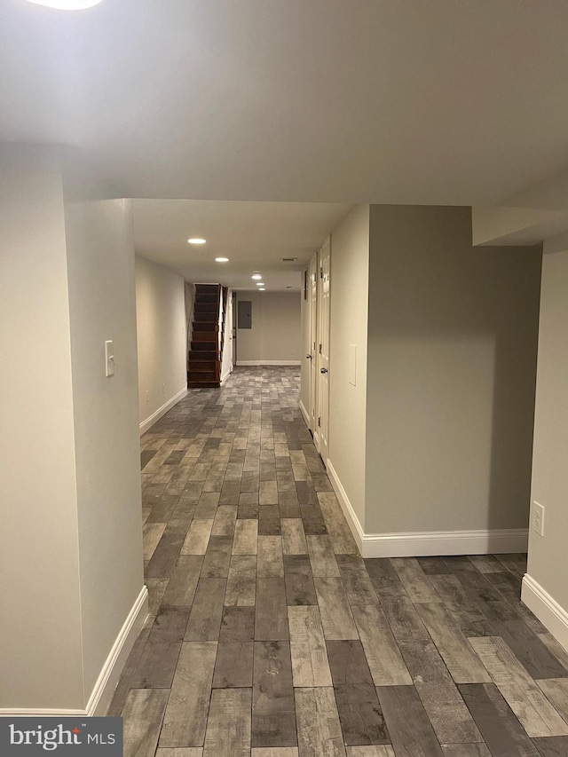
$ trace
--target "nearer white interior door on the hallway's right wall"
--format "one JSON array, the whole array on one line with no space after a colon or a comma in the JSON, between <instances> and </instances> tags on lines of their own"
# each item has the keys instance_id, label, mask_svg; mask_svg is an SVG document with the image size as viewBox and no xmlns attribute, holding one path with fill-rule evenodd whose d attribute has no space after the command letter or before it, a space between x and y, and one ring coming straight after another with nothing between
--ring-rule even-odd
<instances>
[{"instance_id":1,"label":"nearer white interior door on the hallway's right wall","mask_svg":"<svg viewBox=\"0 0 568 757\"><path fill-rule=\"evenodd\" d=\"M318 441L316 447L327 466L329 444L329 307L331 289L331 241L319 250L318 277ZM315 438L314 434L314 438Z\"/></svg>"}]
</instances>

